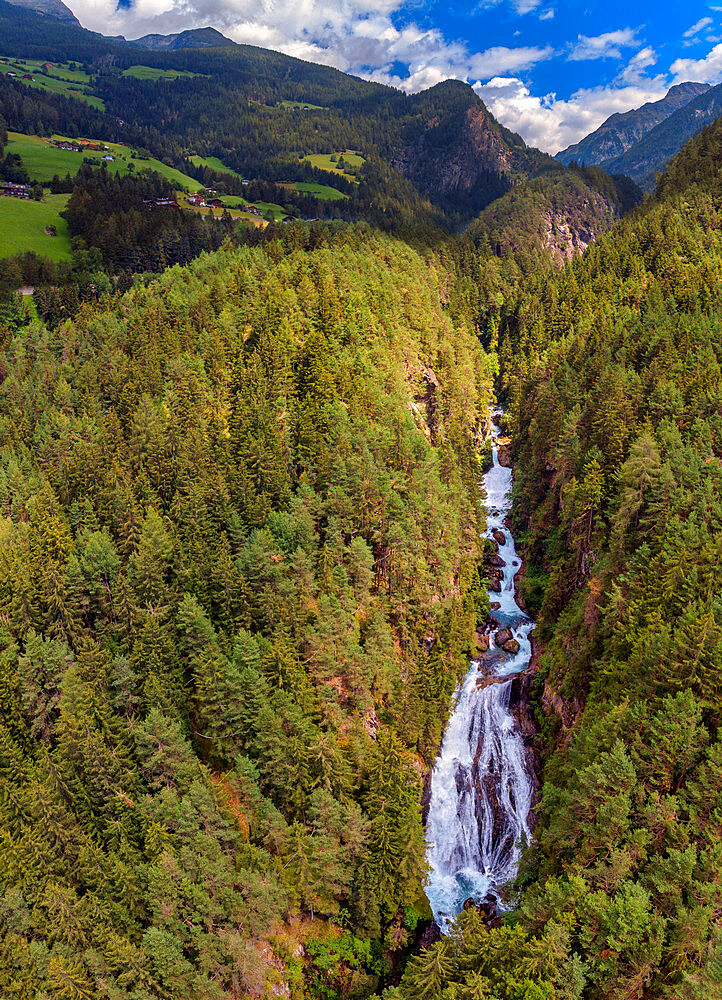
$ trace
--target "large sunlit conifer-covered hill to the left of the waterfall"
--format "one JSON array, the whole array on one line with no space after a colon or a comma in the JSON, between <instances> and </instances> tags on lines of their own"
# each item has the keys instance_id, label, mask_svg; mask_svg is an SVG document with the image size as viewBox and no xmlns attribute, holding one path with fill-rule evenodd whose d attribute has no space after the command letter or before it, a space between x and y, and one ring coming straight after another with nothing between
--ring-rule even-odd
<instances>
[{"instance_id":1,"label":"large sunlit conifer-covered hill to the left of the waterfall","mask_svg":"<svg viewBox=\"0 0 722 1000\"><path fill-rule=\"evenodd\" d=\"M492 360L364 230L6 340L0 992L367 995L477 621Z\"/></svg>"}]
</instances>

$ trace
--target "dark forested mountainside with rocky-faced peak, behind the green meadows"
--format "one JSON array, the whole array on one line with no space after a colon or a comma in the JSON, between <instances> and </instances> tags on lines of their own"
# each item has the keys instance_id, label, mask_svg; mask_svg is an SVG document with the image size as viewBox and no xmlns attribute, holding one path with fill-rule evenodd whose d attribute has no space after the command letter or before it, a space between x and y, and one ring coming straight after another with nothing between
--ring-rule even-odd
<instances>
[{"instance_id":1,"label":"dark forested mountainside with rocky-faced peak, behind the green meadows","mask_svg":"<svg viewBox=\"0 0 722 1000\"><path fill-rule=\"evenodd\" d=\"M0 113L12 129L133 143L180 169L190 156L212 157L216 176L204 183L238 194L241 178L275 185L267 198L284 205L282 185L333 183L333 164L319 169L309 156L357 151L362 163L342 176L349 198L333 203L334 215L385 229L456 229L513 185L557 166L459 81L408 95L250 45L144 50L4 0L0 54L81 64L85 96L104 106L78 108L73 124L80 99L0 76ZM31 113L24 98L43 108ZM314 198L299 207L307 218L326 214Z\"/></svg>"}]
</instances>

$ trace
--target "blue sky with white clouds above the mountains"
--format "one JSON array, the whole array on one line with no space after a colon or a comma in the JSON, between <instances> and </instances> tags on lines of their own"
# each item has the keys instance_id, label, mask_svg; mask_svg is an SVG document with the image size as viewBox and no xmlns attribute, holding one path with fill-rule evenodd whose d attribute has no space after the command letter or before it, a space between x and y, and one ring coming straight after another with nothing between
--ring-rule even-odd
<instances>
[{"instance_id":1,"label":"blue sky with white clouds above the mountains","mask_svg":"<svg viewBox=\"0 0 722 1000\"><path fill-rule=\"evenodd\" d=\"M466 80L503 124L552 153L673 83L722 81L722 6L697 0L127 2L69 6L106 34L211 24L236 41L408 91Z\"/></svg>"}]
</instances>

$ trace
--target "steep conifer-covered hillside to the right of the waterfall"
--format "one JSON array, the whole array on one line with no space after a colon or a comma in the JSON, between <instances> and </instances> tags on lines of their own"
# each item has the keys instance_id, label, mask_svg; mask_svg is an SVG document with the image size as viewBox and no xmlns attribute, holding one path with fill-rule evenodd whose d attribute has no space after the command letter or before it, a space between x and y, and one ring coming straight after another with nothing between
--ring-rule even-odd
<instances>
[{"instance_id":1,"label":"steep conifer-covered hillside to the right of the waterfall","mask_svg":"<svg viewBox=\"0 0 722 1000\"><path fill-rule=\"evenodd\" d=\"M418 997L722 991L722 124L501 318L546 757L521 900L414 960Z\"/></svg>"}]
</instances>

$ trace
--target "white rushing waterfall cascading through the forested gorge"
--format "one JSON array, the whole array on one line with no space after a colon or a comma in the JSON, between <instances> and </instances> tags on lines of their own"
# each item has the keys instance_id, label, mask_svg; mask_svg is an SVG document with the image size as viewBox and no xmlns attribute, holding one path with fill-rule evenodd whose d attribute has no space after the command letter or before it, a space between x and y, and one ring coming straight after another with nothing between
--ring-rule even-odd
<instances>
[{"instance_id":1,"label":"white rushing waterfall cascading through the forested gorge","mask_svg":"<svg viewBox=\"0 0 722 1000\"><path fill-rule=\"evenodd\" d=\"M497 416L498 412L495 421ZM484 535L493 538L496 529L505 537L499 544L499 555L506 563L501 593L490 592L491 600L500 607L492 615L500 628L512 631L519 651L507 653L498 648L492 634L491 648L484 657L485 670L482 672L479 662L473 660L456 694L434 765L426 823L431 869L426 894L442 931L448 929L469 897L480 902L514 878L520 842L531 836L528 819L532 783L524 741L509 712L509 696L513 674L529 664L529 633L534 623L514 596L514 577L521 560L504 524L511 510L511 469L499 464L499 434L494 422L493 466L484 477ZM481 686L490 674L494 681Z\"/></svg>"}]
</instances>

